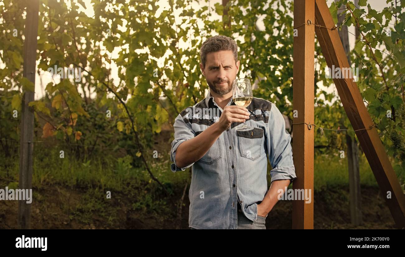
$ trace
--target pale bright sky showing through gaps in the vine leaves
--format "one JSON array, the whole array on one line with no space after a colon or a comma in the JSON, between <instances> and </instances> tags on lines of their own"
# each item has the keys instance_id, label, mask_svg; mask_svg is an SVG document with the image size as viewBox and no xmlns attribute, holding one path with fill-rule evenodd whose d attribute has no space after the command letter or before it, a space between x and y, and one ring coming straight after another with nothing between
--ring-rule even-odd
<instances>
[{"instance_id":1,"label":"pale bright sky showing through gaps in the vine leaves","mask_svg":"<svg viewBox=\"0 0 405 257\"><path fill-rule=\"evenodd\" d=\"M76 2L76 0L64 0L64 2L65 2L66 4L68 4L68 5L71 4L71 1L72 1L73 3ZM85 4L86 4L86 6L85 6L86 9L80 8L79 10L80 10L80 11L83 11L83 12L84 12L87 16L89 16L89 17L94 16L94 11L93 11L92 4L91 4L92 1L94 2L94 0L83 0L83 1L84 1ZM330 4L331 4L332 2L333 2L333 0L328 0L328 1L327 1L328 6L330 6ZM206 3L205 1L194 1L194 3L193 3L193 8L195 8L195 9L198 8L198 5L201 5L201 6L206 6L206 5L214 6L215 3L222 3L222 0L211 0L211 1L207 2L207 3ZM368 3L370 4L371 8L375 9L376 11L381 11L384 7L388 6L388 4L386 4L386 1L385 1L385 0L368 0ZM167 0L159 0L159 1L157 1L157 5L159 6L159 8L158 8L158 11L157 11L156 14L155 14L156 16L159 16L160 13L161 13L163 10L169 9L169 5L168 5ZM181 23L180 13L181 13L181 9L175 10L175 18L176 18L176 23L177 23L177 24ZM221 17L220 15L217 15L216 13L213 13L213 19L219 19L219 20L221 20L222 17ZM199 28L203 28L203 22L202 22L202 21L198 21L197 23L198 23L198 27L199 27ZM125 26L125 23L124 23L124 26ZM262 19L259 19L259 20L258 20L258 28L259 28L260 30L265 30L265 28L264 28L264 23L263 23ZM355 29L354 29L353 26L349 28L349 32L352 32L353 34L355 34ZM240 41L242 41L242 42L244 41L243 38L237 38L237 39L240 40ZM236 40L236 38L235 38L235 40ZM355 42L355 36L354 36L354 35L349 34L349 42L350 42L350 49L353 49L353 47L354 47L354 42ZM179 45L179 47L185 49L185 48L188 47L188 45L189 45L189 42L185 42L185 43L184 43L184 42L181 42L180 45ZM108 53L108 54L109 54L110 56L112 56L113 58L116 58L116 57L118 57L119 51L120 51L120 47L116 47L116 48L115 48L115 51L113 51L112 54L111 54L111 53ZM171 54L170 51L168 51L168 52L166 53L166 56L169 55L169 54ZM162 58L159 60L158 65L159 65L160 67L162 67L162 66L163 66L163 62L164 62L164 57L162 57ZM37 62L37 65L38 65L38 64L39 64L39 62ZM0 68L1 68L2 65L4 65L4 64L0 64ZM107 65L107 68L109 68L109 64L107 63L106 65ZM118 76L117 76L117 72L118 72L117 66L115 66L114 63L112 63L112 65L111 65L111 74L112 74L113 83L114 83L115 85L117 85L117 84L119 83L119 78L118 78ZM198 72L200 72L200 70L198 70ZM243 73L239 73L239 76L240 76L240 77L244 77L244 74L243 74ZM42 81L42 86L41 86L41 81ZM41 75L40 75L40 76L39 76L38 74L36 74L35 100L38 100L38 99L40 99L40 98L43 97L43 95L45 94L45 92L44 92L45 86L46 86L49 82L51 82L51 81L54 81L55 83L59 83L60 79L58 79L58 77L52 77L51 74L50 74L49 72L47 72L47 71L41 71ZM253 81L252 81L252 84L253 84ZM321 89L323 89L323 90L325 90L326 92L328 92L328 93L330 93L330 92L332 92L332 91L335 91L335 94L337 95L337 90L335 89L334 86L324 87L324 86L322 85L322 82L320 82L320 84L318 84L318 86L319 86ZM279 92L281 93L281 91L279 91ZM83 94L83 90L81 89L81 87L79 87L79 93L82 93L82 94ZM206 92L206 93L207 93L207 92ZM86 91L86 96L87 96L87 97L89 97L89 94L92 96L92 98L93 98L94 95L95 95L94 92L89 93L89 92ZM109 95L109 97L113 97L112 93ZM322 98L323 98L323 97L322 97ZM326 101L326 103L328 103L328 102Z\"/></svg>"}]
</instances>

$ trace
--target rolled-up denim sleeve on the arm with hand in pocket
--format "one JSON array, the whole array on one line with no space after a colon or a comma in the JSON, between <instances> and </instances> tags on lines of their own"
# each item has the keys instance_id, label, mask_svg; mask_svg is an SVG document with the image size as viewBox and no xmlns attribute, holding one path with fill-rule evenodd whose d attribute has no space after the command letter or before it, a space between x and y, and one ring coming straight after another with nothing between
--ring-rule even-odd
<instances>
[{"instance_id":1,"label":"rolled-up denim sleeve on the arm with hand in pocket","mask_svg":"<svg viewBox=\"0 0 405 257\"><path fill-rule=\"evenodd\" d=\"M296 178L294 161L292 159L291 135L286 131L286 122L283 115L275 104L271 103L267 135L267 150L271 182L280 179L290 179L290 183Z\"/></svg>"}]
</instances>

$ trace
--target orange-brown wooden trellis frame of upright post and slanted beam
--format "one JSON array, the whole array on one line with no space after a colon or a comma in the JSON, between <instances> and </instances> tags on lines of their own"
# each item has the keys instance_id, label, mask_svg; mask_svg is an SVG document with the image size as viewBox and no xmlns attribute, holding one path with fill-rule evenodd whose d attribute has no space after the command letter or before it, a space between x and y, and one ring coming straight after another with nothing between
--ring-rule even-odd
<instances>
[{"instance_id":1,"label":"orange-brown wooden trellis frame of upright post and slanted beam","mask_svg":"<svg viewBox=\"0 0 405 257\"><path fill-rule=\"evenodd\" d=\"M309 25L310 24L310 25ZM313 129L314 124L314 52L315 34L325 57L326 64L350 68L335 23L325 0L294 0L294 86L293 106L298 110L293 127L293 155L296 169L294 189L311 189L313 192ZM373 121L364 105L356 82L350 78L333 79L343 108L350 120L364 155L370 164L380 190L385 198L396 226L405 227L405 196L378 136ZM306 124L305 124L306 123ZM313 229L313 201L294 201L292 208L294 229Z\"/></svg>"}]
</instances>

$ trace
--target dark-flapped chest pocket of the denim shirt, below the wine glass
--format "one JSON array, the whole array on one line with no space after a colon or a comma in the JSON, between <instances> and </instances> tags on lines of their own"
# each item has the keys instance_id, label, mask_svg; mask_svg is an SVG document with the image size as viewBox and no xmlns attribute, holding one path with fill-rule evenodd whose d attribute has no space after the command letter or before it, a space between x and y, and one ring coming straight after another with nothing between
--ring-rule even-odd
<instances>
[{"instance_id":1,"label":"dark-flapped chest pocket of the denim shirt, below the wine glass","mask_svg":"<svg viewBox=\"0 0 405 257\"><path fill-rule=\"evenodd\" d=\"M237 131L241 156L252 161L262 154L263 130L254 127L249 131Z\"/></svg>"}]
</instances>

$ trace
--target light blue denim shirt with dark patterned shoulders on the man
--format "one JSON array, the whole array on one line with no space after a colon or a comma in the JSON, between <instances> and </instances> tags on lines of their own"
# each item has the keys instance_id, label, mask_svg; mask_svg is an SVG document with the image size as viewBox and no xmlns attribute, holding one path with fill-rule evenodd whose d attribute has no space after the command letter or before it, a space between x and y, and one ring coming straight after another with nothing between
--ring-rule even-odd
<instances>
[{"instance_id":1,"label":"light blue denim shirt with dark patterned shoulders on the man","mask_svg":"<svg viewBox=\"0 0 405 257\"><path fill-rule=\"evenodd\" d=\"M232 98L227 105L235 105ZM212 113L198 113L211 108ZM270 161L271 182L296 178L292 159L291 136L278 108L262 98L253 98L247 126L249 131L236 131L242 123L234 122L198 161L185 166L176 165L179 145L207 129L223 110L210 93L184 109L175 119L174 140L171 144L171 170L183 171L192 166L189 191L189 227L195 229L237 229L237 201L243 215L256 221L257 205L267 191L267 158ZM252 114L254 113L254 115ZM239 213L240 215L240 213Z\"/></svg>"}]
</instances>

